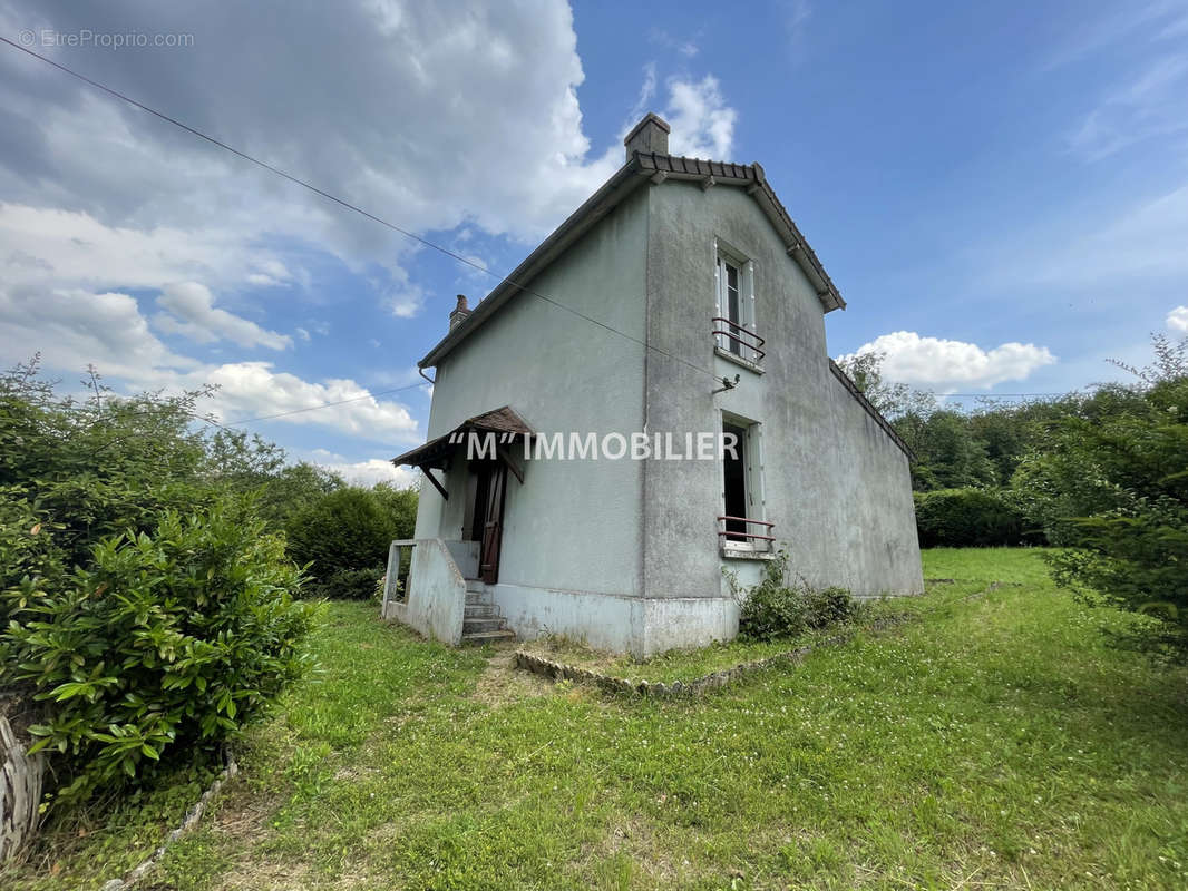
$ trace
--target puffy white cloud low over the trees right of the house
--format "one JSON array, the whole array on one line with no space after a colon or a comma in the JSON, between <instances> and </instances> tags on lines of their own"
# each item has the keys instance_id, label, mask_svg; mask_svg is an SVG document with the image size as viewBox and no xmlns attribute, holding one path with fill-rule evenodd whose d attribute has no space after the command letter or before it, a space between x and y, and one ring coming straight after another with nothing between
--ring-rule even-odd
<instances>
[{"instance_id":1,"label":"puffy white cloud low over the trees right of the house","mask_svg":"<svg viewBox=\"0 0 1188 891\"><path fill-rule=\"evenodd\" d=\"M958 386L988 388L1023 380L1056 361L1047 347L1034 343L1003 343L985 350L977 343L921 337L915 331L883 334L852 355L861 353L885 354L883 374L889 380L950 392Z\"/></svg>"}]
</instances>

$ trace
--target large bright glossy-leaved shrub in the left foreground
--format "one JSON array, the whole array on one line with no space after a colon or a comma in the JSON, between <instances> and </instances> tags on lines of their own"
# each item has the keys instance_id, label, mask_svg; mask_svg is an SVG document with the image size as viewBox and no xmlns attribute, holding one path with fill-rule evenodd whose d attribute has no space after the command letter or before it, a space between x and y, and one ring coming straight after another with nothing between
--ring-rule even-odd
<instances>
[{"instance_id":1,"label":"large bright glossy-leaved shrub in the left foreground","mask_svg":"<svg viewBox=\"0 0 1188 891\"><path fill-rule=\"evenodd\" d=\"M108 536L86 568L4 592L5 680L51 703L30 732L56 753L56 803L143 782L234 737L299 676L315 608L283 541L234 504Z\"/></svg>"}]
</instances>

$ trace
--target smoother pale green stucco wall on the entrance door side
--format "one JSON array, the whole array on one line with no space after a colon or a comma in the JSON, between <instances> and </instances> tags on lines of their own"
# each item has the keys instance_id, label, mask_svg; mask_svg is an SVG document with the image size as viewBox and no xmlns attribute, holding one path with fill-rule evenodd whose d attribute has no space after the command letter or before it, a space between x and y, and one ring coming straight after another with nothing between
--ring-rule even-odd
<instances>
[{"instance_id":1,"label":"smoother pale green stucco wall on the entrance door side","mask_svg":"<svg viewBox=\"0 0 1188 891\"><path fill-rule=\"evenodd\" d=\"M642 340L646 210L642 189L525 284ZM501 405L541 432L630 434L643 421L643 353L638 342L522 293L437 367L429 437ZM500 582L638 595L639 463L542 460L522 466L523 485L507 479ZM457 461L449 473L448 503L432 487L422 487L418 538L462 537L465 481L466 465Z\"/></svg>"}]
</instances>

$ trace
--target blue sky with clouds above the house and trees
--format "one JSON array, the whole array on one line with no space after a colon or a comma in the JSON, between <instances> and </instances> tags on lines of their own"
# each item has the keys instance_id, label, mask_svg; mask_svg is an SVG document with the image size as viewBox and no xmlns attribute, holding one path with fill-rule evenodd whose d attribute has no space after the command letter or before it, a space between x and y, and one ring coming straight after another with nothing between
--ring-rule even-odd
<instances>
[{"instance_id":1,"label":"blue sky with clouds above the house and trees","mask_svg":"<svg viewBox=\"0 0 1188 891\"><path fill-rule=\"evenodd\" d=\"M413 479L387 460L454 296L649 110L675 153L763 164L848 303L834 356L1059 393L1188 333L1188 0L0 0L0 36L494 273L0 45L0 362L217 384L223 422L353 480Z\"/></svg>"}]
</instances>

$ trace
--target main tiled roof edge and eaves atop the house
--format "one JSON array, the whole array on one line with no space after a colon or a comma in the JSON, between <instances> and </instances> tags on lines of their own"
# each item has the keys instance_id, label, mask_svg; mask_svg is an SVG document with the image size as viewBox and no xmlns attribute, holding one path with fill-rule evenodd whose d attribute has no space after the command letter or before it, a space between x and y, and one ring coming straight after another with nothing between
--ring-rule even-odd
<instances>
[{"instance_id":1,"label":"main tiled roof edge and eaves atop the house","mask_svg":"<svg viewBox=\"0 0 1188 891\"><path fill-rule=\"evenodd\" d=\"M836 286L824 271L816 253L809 247L804 235L797 228L788 210L781 203L776 192L767 183L759 164L732 164L729 162L702 160L675 154L657 154L655 152L634 152L627 160L584 204L575 210L569 219L554 230L549 238L527 255L507 278L480 301L474 311L450 331L418 362L422 368L435 366L454 347L466 340L491 315L508 299L525 287L558 254L581 238L595 222L613 210L619 202L644 183L662 183L664 179L695 179L714 184L741 187L766 213L772 226L779 232L788 248L789 257L796 261L808 276L817 292L817 298L826 312L845 309Z\"/></svg>"}]
</instances>

